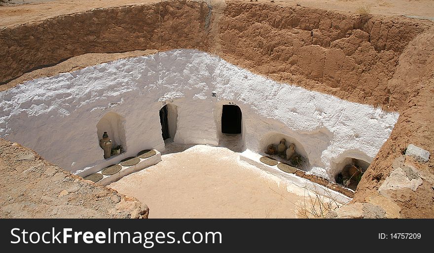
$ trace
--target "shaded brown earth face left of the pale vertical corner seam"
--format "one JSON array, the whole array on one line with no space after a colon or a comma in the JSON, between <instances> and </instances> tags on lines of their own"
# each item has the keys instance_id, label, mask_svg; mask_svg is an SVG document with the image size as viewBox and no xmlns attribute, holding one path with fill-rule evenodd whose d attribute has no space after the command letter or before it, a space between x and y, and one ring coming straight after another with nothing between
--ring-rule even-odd
<instances>
[{"instance_id":1,"label":"shaded brown earth face left of the pale vertical corner seam","mask_svg":"<svg viewBox=\"0 0 434 253\"><path fill-rule=\"evenodd\" d=\"M85 53L205 49L208 12L202 2L162 2L93 9L3 28L0 82Z\"/></svg>"}]
</instances>

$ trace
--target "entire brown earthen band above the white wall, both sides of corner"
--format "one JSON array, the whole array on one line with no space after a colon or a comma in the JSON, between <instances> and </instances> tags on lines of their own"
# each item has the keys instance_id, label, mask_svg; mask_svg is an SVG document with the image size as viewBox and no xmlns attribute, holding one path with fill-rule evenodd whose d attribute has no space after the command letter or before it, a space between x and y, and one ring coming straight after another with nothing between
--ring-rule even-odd
<instances>
[{"instance_id":1,"label":"entire brown earthen band above the white wall, both sides of corner","mask_svg":"<svg viewBox=\"0 0 434 253\"><path fill-rule=\"evenodd\" d=\"M264 3L164 1L92 9L0 30L0 82L85 53L189 48L278 81L387 106L400 54L428 27Z\"/></svg>"}]
</instances>

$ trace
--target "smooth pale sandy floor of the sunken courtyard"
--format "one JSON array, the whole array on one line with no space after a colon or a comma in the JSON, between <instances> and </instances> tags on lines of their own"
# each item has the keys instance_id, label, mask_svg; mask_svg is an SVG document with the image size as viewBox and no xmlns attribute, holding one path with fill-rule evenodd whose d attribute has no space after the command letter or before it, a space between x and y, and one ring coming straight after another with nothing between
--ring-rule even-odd
<instances>
[{"instance_id":1,"label":"smooth pale sandy floor of the sunken courtyard","mask_svg":"<svg viewBox=\"0 0 434 253\"><path fill-rule=\"evenodd\" d=\"M297 218L305 196L239 153L206 145L163 155L108 187L146 203L149 218Z\"/></svg>"}]
</instances>

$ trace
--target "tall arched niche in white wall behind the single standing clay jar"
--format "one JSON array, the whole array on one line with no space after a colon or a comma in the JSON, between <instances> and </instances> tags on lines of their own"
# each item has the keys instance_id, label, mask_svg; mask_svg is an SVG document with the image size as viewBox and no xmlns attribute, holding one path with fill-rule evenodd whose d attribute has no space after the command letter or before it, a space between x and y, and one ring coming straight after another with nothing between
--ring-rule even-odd
<instances>
[{"instance_id":1,"label":"tall arched niche in white wall behind the single standing clay jar","mask_svg":"<svg viewBox=\"0 0 434 253\"><path fill-rule=\"evenodd\" d=\"M114 112L106 113L97 124L98 142L103 138L104 132L107 132L112 141L112 147L121 145L122 149L126 151L124 122L125 119L119 114Z\"/></svg>"}]
</instances>

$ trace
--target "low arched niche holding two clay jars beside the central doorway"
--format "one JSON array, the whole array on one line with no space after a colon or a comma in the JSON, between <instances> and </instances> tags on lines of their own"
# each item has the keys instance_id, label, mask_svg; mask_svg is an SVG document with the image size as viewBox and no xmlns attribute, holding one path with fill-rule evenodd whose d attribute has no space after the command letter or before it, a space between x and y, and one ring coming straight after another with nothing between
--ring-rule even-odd
<instances>
[{"instance_id":1,"label":"low arched niche holding two clay jars beside the central doorway","mask_svg":"<svg viewBox=\"0 0 434 253\"><path fill-rule=\"evenodd\" d=\"M289 145L294 144L295 145L295 154L294 156L301 156L303 163L300 164L300 166L296 166L299 169L308 171L310 169L310 163L309 163L309 156L306 153L306 150L304 149L303 145L294 137L288 136L286 134L283 133L277 133L277 132L270 132L266 135L264 135L264 137L262 137L261 141L260 141L260 149L262 150L263 153L267 154L268 151L268 147L269 145L274 145L274 147L276 148L277 151L277 145L280 143L280 141L282 139L285 139L286 141L286 147L288 148ZM276 158L277 160L280 161L289 161L289 163L291 163L291 159L287 159L287 158L280 158L278 155L272 155L273 158ZM294 166L296 164L293 164Z\"/></svg>"}]
</instances>

